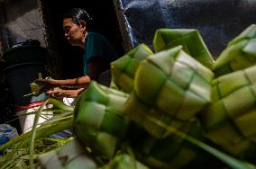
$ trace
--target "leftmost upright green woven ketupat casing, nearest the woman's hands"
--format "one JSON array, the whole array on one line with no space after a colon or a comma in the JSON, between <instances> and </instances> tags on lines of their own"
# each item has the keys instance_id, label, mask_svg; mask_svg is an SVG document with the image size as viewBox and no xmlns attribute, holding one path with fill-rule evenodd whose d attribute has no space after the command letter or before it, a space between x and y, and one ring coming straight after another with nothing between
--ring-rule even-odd
<instances>
[{"instance_id":1,"label":"leftmost upright green woven ketupat casing, nearest the woman's hands","mask_svg":"<svg viewBox=\"0 0 256 169\"><path fill-rule=\"evenodd\" d=\"M75 135L98 156L114 156L128 123L120 113L127 97L127 93L93 81L78 98L74 120Z\"/></svg>"}]
</instances>

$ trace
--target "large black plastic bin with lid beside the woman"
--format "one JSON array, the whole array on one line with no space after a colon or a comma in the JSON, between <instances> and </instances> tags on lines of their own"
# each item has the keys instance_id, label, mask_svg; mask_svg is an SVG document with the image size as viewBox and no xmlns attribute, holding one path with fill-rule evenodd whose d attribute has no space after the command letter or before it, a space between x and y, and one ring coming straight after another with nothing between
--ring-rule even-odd
<instances>
[{"instance_id":1,"label":"large black plastic bin with lid beside the woman","mask_svg":"<svg viewBox=\"0 0 256 169\"><path fill-rule=\"evenodd\" d=\"M41 47L39 40L17 43L5 52L2 57L5 60L4 73L14 105L27 105L46 99L45 95L36 98L23 95L31 93L30 84L38 78L39 73L43 77L49 76L45 68L47 55L47 50Z\"/></svg>"}]
</instances>

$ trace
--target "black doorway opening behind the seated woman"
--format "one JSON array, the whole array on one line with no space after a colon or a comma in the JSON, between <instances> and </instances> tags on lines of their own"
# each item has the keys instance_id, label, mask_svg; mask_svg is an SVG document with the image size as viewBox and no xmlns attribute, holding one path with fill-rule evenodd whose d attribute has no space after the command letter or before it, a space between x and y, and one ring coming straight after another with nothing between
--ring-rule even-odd
<instances>
[{"instance_id":1,"label":"black doorway opening behind the seated woman","mask_svg":"<svg viewBox=\"0 0 256 169\"><path fill-rule=\"evenodd\" d=\"M114 11L113 1L106 0L44 0L43 5L48 9L46 16L50 21L50 27L53 29L54 40L56 42L59 58L62 60L61 70L63 78L72 78L83 75L82 54L83 50L71 47L64 39L62 30L61 16L73 7L82 7L93 18L93 27L91 31L99 32L110 40L119 55L123 55L121 45L121 34ZM60 61L61 61L60 60Z\"/></svg>"}]
</instances>

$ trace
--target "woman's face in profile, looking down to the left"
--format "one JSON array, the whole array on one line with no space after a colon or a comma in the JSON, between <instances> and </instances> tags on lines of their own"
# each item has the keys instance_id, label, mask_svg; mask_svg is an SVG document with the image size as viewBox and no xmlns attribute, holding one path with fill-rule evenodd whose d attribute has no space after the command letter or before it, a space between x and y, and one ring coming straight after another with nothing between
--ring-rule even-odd
<instances>
[{"instance_id":1,"label":"woman's face in profile, looking down to the left","mask_svg":"<svg viewBox=\"0 0 256 169\"><path fill-rule=\"evenodd\" d=\"M82 25L72 22L72 18L63 19L63 30L66 40L72 46L83 46L85 33Z\"/></svg>"}]
</instances>

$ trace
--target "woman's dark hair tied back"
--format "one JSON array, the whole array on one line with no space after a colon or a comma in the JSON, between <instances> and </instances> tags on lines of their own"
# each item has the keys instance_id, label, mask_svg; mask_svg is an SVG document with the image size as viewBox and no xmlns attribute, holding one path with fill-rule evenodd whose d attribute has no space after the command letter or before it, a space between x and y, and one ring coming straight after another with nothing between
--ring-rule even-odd
<instances>
[{"instance_id":1,"label":"woman's dark hair tied back","mask_svg":"<svg viewBox=\"0 0 256 169\"><path fill-rule=\"evenodd\" d=\"M65 19L65 18L72 18L72 22L78 25L80 24L81 21L84 21L87 24L91 24L90 22L92 22L93 20L90 17L90 15L87 13L87 11L82 8L73 8L69 10L68 13L64 13L62 16L62 19Z\"/></svg>"}]
</instances>

